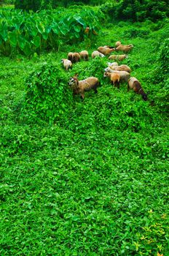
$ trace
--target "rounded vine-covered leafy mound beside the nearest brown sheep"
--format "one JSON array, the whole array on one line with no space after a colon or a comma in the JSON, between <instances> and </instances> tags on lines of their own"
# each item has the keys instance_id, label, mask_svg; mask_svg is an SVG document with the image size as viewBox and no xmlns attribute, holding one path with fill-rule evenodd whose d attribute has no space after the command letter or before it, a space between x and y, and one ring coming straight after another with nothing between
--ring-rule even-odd
<instances>
[{"instance_id":1,"label":"rounded vine-covered leafy mound beside the nearest brown sheep","mask_svg":"<svg viewBox=\"0 0 169 256\"><path fill-rule=\"evenodd\" d=\"M44 64L25 81L23 113L29 120L52 124L68 113L71 102L66 73L58 66Z\"/></svg>"}]
</instances>

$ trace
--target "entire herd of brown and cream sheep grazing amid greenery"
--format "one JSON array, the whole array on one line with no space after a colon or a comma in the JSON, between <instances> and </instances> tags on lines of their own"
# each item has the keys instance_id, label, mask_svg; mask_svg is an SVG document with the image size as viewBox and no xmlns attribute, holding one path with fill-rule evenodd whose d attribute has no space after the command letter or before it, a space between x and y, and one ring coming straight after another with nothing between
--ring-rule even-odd
<instances>
[{"instance_id":1,"label":"entire herd of brown and cream sheep grazing amid greenery","mask_svg":"<svg viewBox=\"0 0 169 256\"><path fill-rule=\"evenodd\" d=\"M110 46L99 47L98 50L93 51L92 58L95 56L104 57L109 55L113 51L122 51L123 53L128 53L133 49L133 45L122 45L121 42L116 42L116 48ZM126 54L123 55L110 55L109 59L122 61L127 58ZM80 53L68 53L68 59L62 59L63 67L65 67L66 71L72 67L72 64L76 63L80 59L84 59L87 61L89 59L89 54L87 50L82 50ZM104 69L103 76L109 77L111 80L111 84L119 88L119 83L127 82L127 91L129 89L133 89L137 94L141 94L144 100L147 99L147 94L145 94L144 89L141 87L141 83L137 80L137 78L130 78L130 67L127 65L118 65L117 62L108 62L108 67ZM84 91L94 90L95 93L98 92L97 88L99 86L98 78L90 77L84 80L78 80L78 74L74 75L73 78L70 78L68 85L71 86L73 94L79 94L82 99L84 99Z\"/></svg>"}]
</instances>

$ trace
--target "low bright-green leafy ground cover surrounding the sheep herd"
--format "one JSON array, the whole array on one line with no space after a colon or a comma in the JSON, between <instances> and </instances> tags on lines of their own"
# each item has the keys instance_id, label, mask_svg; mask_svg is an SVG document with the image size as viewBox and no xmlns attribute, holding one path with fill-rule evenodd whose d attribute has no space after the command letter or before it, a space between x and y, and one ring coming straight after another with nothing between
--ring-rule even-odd
<instances>
[{"instance_id":1,"label":"low bright-green leafy ground cover surrounding the sheep herd","mask_svg":"<svg viewBox=\"0 0 169 256\"><path fill-rule=\"evenodd\" d=\"M109 23L95 42L0 58L0 255L169 255L169 127L156 75L164 31L162 23ZM44 64L63 69L68 51L91 54L117 40L134 45L122 64L147 102L103 78L107 57L90 57L67 80L98 75L98 94L74 97L68 115L51 125L22 116L28 75Z\"/></svg>"}]
</instances>

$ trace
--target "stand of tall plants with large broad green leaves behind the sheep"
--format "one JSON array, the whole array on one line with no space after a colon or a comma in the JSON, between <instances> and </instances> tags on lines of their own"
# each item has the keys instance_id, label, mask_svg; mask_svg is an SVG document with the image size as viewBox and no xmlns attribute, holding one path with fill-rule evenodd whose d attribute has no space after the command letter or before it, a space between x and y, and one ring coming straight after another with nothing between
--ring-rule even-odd
<instances>
[{"instance_id":1,"label":"stand of tall plants with large broad green leaves behind the sheep","mask_svg":"<svg viewBox=\"0 0 169 256\"><path fill-rule=\"evenodd\" d=\"M93 40L103 20L103 13L90 8L79 10L43 10L26 13L18 10L0 10L0 52L4 55L20 52L25 56L42 50L60 48L60 45ZM85 34L86 27L90 32Z\"/></svg>"}]
</instances>

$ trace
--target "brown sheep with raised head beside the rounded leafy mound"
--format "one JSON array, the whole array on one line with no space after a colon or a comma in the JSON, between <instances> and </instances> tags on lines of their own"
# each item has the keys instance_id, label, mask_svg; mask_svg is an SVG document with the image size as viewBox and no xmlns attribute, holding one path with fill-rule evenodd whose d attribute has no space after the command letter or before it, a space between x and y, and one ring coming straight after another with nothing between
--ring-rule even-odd
<instances>
[{"instance_id":1,"label":"brown sheep with raised head beside the rounded leafy mound","mask_svg":"<svg viewBox=\"0 0 169 256\"><path fill-rule=\"evenodd\" d=\"M73 90L73 94L79 94L82 99L84 99L84 91L94 90L95 94L97 94L99 81L98 78L90 77L84 80L78 80L78 74L74 75L73 78L70 78L68 85L71 86Z\"/></svg>"}]
</instances>

